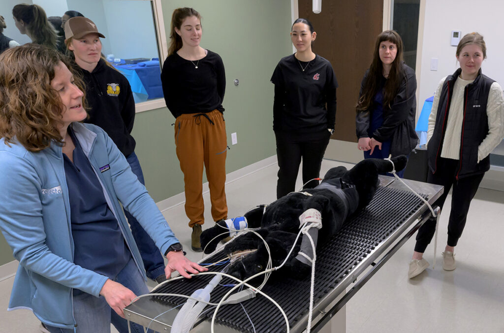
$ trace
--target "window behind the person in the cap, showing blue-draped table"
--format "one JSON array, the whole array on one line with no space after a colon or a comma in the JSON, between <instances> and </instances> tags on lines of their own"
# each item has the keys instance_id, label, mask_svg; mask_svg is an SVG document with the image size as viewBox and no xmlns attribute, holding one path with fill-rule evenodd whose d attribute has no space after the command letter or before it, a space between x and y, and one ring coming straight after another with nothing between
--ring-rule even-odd
<instances>
[{"instance_id":1,"label":"window behind the person in the cap, showing blue-draped table","mask_svg":"<svg viewBox=\"0 0 504 333\"><path fill-rule=\"evenodd\" d=\"M91 19L106 37L101 38L104 57L128 79L135 102L163 97L151 1L39 0L37 4L48 17L70 10Z\"/></svg>"}]
</instances>

